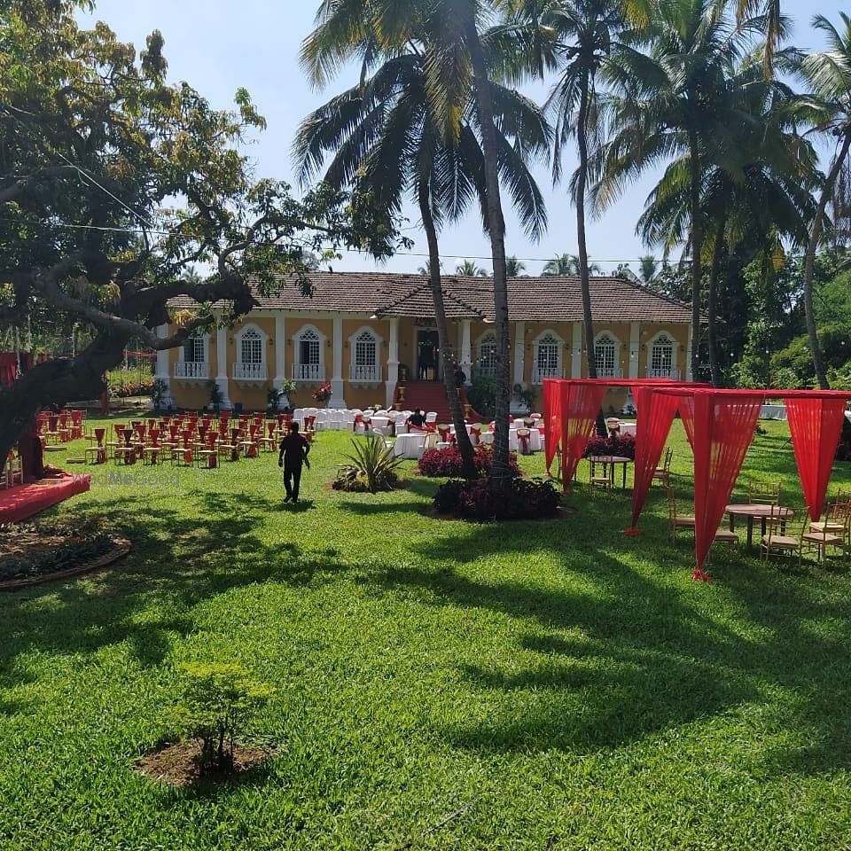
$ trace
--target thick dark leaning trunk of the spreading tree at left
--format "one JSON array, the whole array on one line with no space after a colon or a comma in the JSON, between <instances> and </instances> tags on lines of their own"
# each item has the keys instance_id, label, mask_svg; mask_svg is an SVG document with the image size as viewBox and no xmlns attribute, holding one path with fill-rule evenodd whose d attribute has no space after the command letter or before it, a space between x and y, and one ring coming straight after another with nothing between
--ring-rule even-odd
<instances>
[{"instance_id":1,"label":"thick dark leaning trunk of the spreading tree at left","mask_svg":"<svg viewBox=\"0 0 851 851\"><path fill-rule=\"evenodd\" d=\"M121 334L101 335L73 359L40 363L11 387L0 388L0 472L9 450L28 433L39 410L101 393L103 374L121 363L128 339Z\"/></svg>"}]
</instances>

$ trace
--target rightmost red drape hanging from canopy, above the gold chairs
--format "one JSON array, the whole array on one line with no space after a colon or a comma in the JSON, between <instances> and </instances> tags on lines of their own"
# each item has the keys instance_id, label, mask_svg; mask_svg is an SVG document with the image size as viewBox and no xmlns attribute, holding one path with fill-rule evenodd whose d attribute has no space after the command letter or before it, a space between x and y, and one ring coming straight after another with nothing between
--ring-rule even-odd
<instances>
[{"instance_id":1,"label":"rightmost red drape hanging from canopy, above the gold chairs","mask_svg":"<svg viewBox=\"0 0 851 851\"><path fill-rule=\"evenodd\" d=\"M846 401L847 394L785 397L800 485L812 520L819 519L824 511Z\"/></svg>"}]
</instances>

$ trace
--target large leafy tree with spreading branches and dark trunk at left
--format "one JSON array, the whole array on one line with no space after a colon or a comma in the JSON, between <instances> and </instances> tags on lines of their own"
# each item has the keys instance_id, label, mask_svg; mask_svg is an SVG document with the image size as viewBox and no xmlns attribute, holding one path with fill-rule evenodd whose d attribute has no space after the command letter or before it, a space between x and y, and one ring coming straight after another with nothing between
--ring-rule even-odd
<instances>
[{"instance_id":1,"label":"large leafy tree with spreading branches and dark trunk at left","mask_svg":"<svg viewBox=\"0 0 851 851\"><path fill-rule=\"evenodd\" d=\"M265 122L246 90L215 110L167 82L158 32L137 55L103 23L80 27L80 5L0 2L0 329L34 311L90 329L73 358L0 388L0 470L40 408L101 392L129 340L179 346L244 315L282 274L309 295L316 252L381 257L397 239L368 197L320 186L294 199L255 180L240 147ZM199 307L161 338L180 295Z\"/></svg>"}]
</instances>

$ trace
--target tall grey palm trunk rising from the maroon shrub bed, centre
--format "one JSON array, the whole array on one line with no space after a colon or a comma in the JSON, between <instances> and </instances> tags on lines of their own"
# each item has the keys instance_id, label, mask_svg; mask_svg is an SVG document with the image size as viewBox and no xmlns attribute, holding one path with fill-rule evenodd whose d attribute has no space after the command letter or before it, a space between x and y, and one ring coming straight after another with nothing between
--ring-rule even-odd
<instances>
[{"instance_id":1,"label":"tall grey palm trunk rising from the maroon shrub bed, centre","mask_svg":"<svg viewBox=\"0 0 851 851\"><path fill-rule=\"evenodd\" d=\"M488 89L488 68L479 41L475 17L466 24L467 48L470 51L472 73L475 78L476 112L481 128L482 149L485 158L485 187L488 195L488 235L494 262L494 332L496 333L496 400L494 462L490 481L498 491L504 491L511 482L508 465L508 416L511 402L511 338L508 325L508 283L505 271L505 220L499 194L499 168L496 160L496 127L494 107Z\"/></svg>"}]
</instances>

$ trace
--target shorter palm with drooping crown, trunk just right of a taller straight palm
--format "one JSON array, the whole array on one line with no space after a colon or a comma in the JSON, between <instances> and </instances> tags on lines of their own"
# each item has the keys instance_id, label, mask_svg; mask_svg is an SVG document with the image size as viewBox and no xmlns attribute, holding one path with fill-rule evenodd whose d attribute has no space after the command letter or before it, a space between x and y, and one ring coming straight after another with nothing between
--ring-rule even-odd
<instances>
[{"instance_id":1,"label":"shorter palm with drooping crown, trunk just right of a taller straight palm","mask_svg":"<svg viewBox=\"0 0 851 851\"><path fill-rule=\"evenodd\" d=\"M782 57L784 63L787 57ZM814 210L816 154L798 132L800 98L767 79L758 56L747 57L718 98L725 120L703 154L702 229L707 232L707 332L715 386L721 383L717 342L717 285L724 257L739 246L782 257L785 244L805 242ZM665 170L648 198L637 230L666 256L691 232L691 153Z\"/></svg>"}]
</instances>

